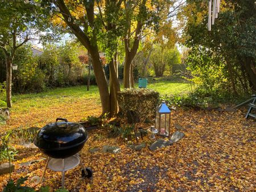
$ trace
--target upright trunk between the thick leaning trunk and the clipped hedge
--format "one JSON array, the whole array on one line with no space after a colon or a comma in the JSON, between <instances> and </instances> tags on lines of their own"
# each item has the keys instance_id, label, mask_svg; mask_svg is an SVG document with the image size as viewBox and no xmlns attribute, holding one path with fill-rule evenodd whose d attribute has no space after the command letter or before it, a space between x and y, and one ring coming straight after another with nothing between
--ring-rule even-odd
<instances>
[{"instance_id":1,"label":"upright trunk between the thick leaning trunk and the clipped hedge","mask_svg":"<svg viewBox=\"0 0 256 192\"><path fill-rule=\"evenodd\" d=\"M117 76L117 53L109 63L109 89L110 89L110 114L115 116L118 112L117 92L120 91L120 84Z\"/></svg>"}]
</instances>

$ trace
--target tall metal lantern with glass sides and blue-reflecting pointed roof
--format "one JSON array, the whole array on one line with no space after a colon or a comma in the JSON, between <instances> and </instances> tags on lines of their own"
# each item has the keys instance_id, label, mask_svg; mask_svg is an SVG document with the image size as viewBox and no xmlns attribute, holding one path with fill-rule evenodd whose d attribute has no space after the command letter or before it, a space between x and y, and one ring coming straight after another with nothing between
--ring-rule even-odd
<instances>
[{"instance_id":1,"label":"tall metal lantern with glass sides and blue-reflecting pointed roof","mask_svg":"<svg viewBox=\"0 0 256 192\"><path fill-rule=\"evenodd\" d=\"M160 106L156 108L155 128L158 130L160 136L169 136L171 123L171 110L163 101Z\"/></svg>"}]
</instances>

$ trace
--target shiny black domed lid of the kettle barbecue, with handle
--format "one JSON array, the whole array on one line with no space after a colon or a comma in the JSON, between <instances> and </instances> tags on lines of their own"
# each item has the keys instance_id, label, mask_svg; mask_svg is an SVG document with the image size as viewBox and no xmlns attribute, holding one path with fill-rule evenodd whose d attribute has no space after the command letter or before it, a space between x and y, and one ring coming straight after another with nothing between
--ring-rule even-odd
<instances>
[{"instance_id":1,"label":"shiny black domed lid of the kettle barbecue, with handle","mask_svg":"<svg viewBox=\"0 0 256 192\"><path fill-rule=\"evenodd\" d=\"M63 150L85 143L87 139L88 133L81 124L57 118L55 123L47 124L38 132L34 144L40 149Z\"/></svg>"}]
</instances>

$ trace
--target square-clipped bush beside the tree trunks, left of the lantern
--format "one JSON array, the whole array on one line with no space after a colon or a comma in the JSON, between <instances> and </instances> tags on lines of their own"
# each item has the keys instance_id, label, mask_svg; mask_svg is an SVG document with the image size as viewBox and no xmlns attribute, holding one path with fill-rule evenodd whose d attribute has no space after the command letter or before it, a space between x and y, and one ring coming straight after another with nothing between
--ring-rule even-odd
<instances>
[{"instance_id":1,"label":"square-clipped bush beside the tree trunks, left of the lantern","mask_svg":"<svg viewBox=\"0 0 256 192\"><path fill-rule=\"evenodd\" d=\"M118 105L128 123L154 118L159 93L150 89L125 89L118 93Z\"/></svg>"}]
</instances>

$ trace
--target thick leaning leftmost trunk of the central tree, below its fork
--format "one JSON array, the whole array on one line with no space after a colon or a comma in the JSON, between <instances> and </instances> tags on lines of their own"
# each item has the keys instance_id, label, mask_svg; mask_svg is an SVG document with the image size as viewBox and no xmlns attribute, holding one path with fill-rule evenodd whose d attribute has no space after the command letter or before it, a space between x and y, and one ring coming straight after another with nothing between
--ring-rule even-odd
<instances>
[{"instance_id":1,"label":"thick leaning leftmost trunk of the central tree, below its fork","mask_svg":"<svg viewBox=\"0 0 256 192\"><path fill-rule=\"evenodd\" d=\"M109 88L108 83L106 81L106 76L104 73L103 66L100 61L100 54L98 52L97 46L91 46L88 49L90 56L92 56L92 64L94 69L94 74L96 78L96 82L98 84L98 90L100 92L101 98L101 107L102 107L102 114L110 115L110 97L109 97Z\"/></svg>"}]
</instances>

